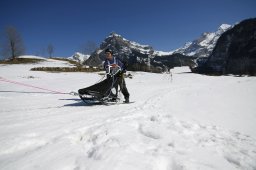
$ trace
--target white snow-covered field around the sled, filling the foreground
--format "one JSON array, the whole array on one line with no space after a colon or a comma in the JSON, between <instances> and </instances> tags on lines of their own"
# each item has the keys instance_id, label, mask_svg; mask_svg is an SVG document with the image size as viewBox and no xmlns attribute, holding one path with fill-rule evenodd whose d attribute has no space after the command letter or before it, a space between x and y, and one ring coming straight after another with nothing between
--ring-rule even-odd
<instances>
[{"instance_id":1,"label":"white snow-covered field around the sled, filling the foreground","mask_svg":"<svg viewBox=\"0 0 256 170\"><path fill-rule=\"evenodd\" d=\"M0 77L60 92L97 73L0 65ZM1 170L255 170L256 78L135 72L131 104L86 106L78 97L0 81ZM1 79L0 79L1 80Z\"/></svg>"}]
</instances>

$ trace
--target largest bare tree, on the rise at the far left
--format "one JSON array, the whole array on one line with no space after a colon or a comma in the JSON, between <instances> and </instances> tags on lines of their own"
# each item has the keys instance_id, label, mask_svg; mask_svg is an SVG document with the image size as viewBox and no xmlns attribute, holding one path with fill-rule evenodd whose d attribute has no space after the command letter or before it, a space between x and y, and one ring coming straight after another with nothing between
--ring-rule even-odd
<instances>
[{"instance_id":1,"label":"largest bare tree, on the rise at the far left","mask_svg":"<svg viewBox=\"0 0 256 170\"><path fill-rule=\"evenodd\" d=\"M8 26L5 29L2 54L4 58L15 59L25 53L21 34L13 26Z\"/></svg>"}]
</instances>

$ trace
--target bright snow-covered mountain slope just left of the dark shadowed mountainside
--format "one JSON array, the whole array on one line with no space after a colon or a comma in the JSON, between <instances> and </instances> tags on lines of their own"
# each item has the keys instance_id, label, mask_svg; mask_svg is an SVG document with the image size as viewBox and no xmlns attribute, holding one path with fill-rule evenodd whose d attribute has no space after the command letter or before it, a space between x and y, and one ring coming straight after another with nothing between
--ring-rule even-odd
<instances>
[{"instance_id":1,"label":"bright snow-covered mountain slope just left of the dark shadowed mountainside","mask_svg":"<svg viewBox=\"0 0 256 170\"><path fill-rule=\"evenodd\" d=\"M180 53L186 56L208 57L215 47L219 37L232 28L231 25L222 24L216 32L205 32L198 39L187 42L183 47L174 50L174 53Z\"/></svg>"}]
</instances>

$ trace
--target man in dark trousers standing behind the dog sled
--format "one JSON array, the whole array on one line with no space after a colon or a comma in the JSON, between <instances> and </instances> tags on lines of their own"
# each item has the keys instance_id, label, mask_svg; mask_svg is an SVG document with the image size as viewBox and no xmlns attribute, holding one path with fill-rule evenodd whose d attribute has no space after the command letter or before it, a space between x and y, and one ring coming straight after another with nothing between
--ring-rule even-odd
<instances>
[{"instance_id":1,"label":"man in dark trousers standing behind the dog sled","mask_svg":"<svg viewBox=\"0 0 256 170\"><path fill-rule=\"evenodd\" d=\"M121 92L124 95L125 103L129 103L129 97L130 94L127 90L126 83L124 80L124 73L125 73L125 65L116 57L113 56L113 51L111 49L105 50L106 59L104 62L104 68L107 71L108 66L117 67L119 66L121 68L121 72L116 76L117 78L117 84L120 86Z\"/></svg>"}]
</instances>

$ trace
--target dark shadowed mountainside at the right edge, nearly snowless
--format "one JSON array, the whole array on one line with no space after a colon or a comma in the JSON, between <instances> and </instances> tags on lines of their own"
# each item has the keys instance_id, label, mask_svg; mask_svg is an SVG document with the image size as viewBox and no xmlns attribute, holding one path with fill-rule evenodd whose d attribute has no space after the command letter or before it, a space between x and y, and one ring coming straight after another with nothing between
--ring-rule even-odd
<instances>
[{"instance_id":1,"label":"dark shadowed mountainside at the right edge, nearly snowless","mask_svg":"<svg viewBox=\"0 0 256 170\"><path fill-rule=\"evenodd\" d=\"M219 38L200 73L256 75L256 18L236 24Z\"/></svg>"}]
</instances>

